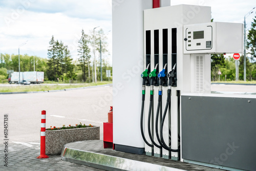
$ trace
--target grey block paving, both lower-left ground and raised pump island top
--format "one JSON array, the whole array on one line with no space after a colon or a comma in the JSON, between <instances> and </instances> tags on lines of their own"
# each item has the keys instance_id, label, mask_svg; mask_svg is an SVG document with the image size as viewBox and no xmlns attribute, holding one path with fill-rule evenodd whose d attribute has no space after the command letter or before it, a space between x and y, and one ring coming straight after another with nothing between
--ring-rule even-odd
<instances>
[{"instance_id":1,"label":"grey block paving, both lower-left ground and raised pump island top","mask_svg":"<svg viewBox=\"0 0 256 171\"><path fill-rule=\"evenodd\" d=\"M148 162L158 165L164 165L167 167L180 168L184 170L211 170L220 171L221 169L209 168L204 166L199 166L195 164L176 162L172 160L150 157L145 155L135 155L130 153L117 152L112 148L103 148L102 140L89 140L89 141L78 141L67 144L67 146L82 149L89 152L100 153L110 156L122 157L126 159L132 159L142 162ZM8 144L8 167L4 166L4 143L0 144L0 171L34 171L34 170L49 170L49 171L60 171L60 170L70 170L70 171L100 171L102 169L89 167L86 165L80 165L75 163L70 163L62 161L60 155L49 156L46 159L37 159L36 157L40 155L40 143L39 142L11 142Z\"/></svg>"}]
</instances>

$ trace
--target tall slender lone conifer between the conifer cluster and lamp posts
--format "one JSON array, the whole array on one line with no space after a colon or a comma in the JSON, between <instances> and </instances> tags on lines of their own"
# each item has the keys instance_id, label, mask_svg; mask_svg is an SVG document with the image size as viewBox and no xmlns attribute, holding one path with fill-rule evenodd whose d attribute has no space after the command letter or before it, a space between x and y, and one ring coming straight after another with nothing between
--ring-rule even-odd
<instances>
[{"instance_id":1,"label":"tall slender lone conifer between the conifer cluster and lamp posts","mask_svg":"<svg viewBox=\"0 0 256 171\"><path fill-rule=\"evenodd\" d=\"M82 70L82 80L86 81L86 70L88 69L89 81L90 81L90 48L89 48L89 36L84 34L82 30L81 38L78 40L78 55L79 66Z\"/></svg>"}]
</instances>

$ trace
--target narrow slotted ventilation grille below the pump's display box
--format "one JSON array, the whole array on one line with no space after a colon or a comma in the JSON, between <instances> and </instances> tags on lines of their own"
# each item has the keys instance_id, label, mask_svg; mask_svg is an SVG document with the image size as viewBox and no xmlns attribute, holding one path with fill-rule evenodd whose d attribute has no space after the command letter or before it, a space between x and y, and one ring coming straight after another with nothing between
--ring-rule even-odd
<instances>
[{"instance_id":1,"label":"narrow slotted ventilation grille below the pump's display box","mask_svg":"<svg viewBox=\"0 0 256 171\"><path fill-rule=\"evenodd\" d=\"M196 57L196 92L204 91L204 57Z\"/></svg>"}]
</instances>

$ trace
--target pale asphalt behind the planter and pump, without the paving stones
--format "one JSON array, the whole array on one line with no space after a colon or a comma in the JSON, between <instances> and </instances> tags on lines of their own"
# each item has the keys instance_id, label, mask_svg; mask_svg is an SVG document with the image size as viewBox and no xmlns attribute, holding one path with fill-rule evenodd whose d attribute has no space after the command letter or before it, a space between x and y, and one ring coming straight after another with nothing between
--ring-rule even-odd
<instances>
[{"instance_id":1,"label":"pale asphalt behind the planter and pump, without the paving stones","mask_svg":"<svg viewBox=\"0 0 256 171\"><path fill-rule=\"evenodd\" d=\"M212 84L212 91L256 92L256 86ZM46 127L92 124L100 126L103 139L103 122L108 121L112 105L112 87L97 87L50 93L0 95L0 123L8 115L10 142L40 141L41 111L46 111ZM0 138L4 127L0 124Z\"/></svg>"}]
</instances>

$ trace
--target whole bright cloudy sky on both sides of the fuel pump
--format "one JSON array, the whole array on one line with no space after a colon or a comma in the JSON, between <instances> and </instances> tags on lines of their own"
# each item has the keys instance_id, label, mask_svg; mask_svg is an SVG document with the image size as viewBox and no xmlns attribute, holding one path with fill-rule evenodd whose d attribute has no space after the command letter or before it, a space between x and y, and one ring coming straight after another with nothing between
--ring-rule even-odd
<instances>
[{"instance_id":1,"label":"whole bright cloudy sky on both sides of the fuel pump","mask_svg":"<svg viewBox=\"0 0 256 171\"><path fill-rule=\"evenodd\" d=\"M116 0L117 1L117 0ZM120 1L120 0L118 0ZM122 0L128 1L128 0ZM152 1L152 0L143 0ZM211 7L215 22L243 23L244 16L256 7L255 0L177 0L170 5L190 4ZM246 17L250 28L255 11ZM68 45L77 58L77 41L81 30L89 34L95 27L108 38L110 55L102 58L112 61L112 1L111 0L0 0L0 53L47 57L49 41L54 36Z\"/></svg>"}]
</instances>

